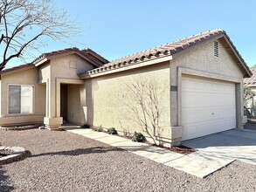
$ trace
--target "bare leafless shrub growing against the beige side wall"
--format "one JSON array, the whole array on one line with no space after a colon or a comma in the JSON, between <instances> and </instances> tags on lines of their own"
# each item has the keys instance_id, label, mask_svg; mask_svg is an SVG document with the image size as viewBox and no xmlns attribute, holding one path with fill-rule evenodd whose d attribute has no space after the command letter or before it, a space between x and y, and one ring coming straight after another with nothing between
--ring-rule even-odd
<instances>
[{"instance_id":1,"label":"bare leafless shrub growing against the beige side wall","mask_svg":"<svg viewBox=\"0 0 256 192\"><path fill-rule=\"evenodd\" d=\"M122 95L124 103L135 115L135 121L156 144L156 128L162 115L161 99L163 91L156 79L133 79L125 84Z\"/></svg>"}]
</instances>

